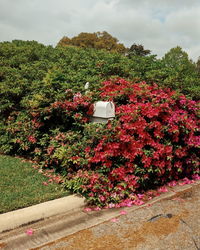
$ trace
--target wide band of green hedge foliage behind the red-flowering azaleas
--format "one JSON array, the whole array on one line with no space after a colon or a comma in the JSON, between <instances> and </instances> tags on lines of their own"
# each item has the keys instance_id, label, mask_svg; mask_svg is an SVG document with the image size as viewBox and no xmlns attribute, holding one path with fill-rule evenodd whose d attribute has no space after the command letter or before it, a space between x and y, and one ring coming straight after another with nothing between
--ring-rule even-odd
<instances>
[{"instance_id":1,"label":"wide band of green hedge foliage behind the red-flowering azaleas","mask_svg":"<svg viewBox=\"0 0 200 250\"><path fill-rule=\"evenodd\" d=\"M129 59L102 50L53 48L14 40L0 43L0 120L26 110L27 105L44 107L60 100L65 89L83 92L86 82L98 97L100 82L116 76L156 82L199 99L198 63L192 63L180 48L172 49L163 59L154 55Z\"/></svg>"}]
</instances>

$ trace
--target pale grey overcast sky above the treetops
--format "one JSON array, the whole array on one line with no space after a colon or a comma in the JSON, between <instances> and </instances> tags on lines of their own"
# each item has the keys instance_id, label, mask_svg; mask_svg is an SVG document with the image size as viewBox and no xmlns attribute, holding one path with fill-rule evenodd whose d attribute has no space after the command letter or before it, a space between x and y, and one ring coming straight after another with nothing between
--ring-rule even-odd
<instances>
[{"instance_id":1,"label":"pale grey overcast sky above the treetops","mask_svg":"<svg viewBox=\"0 0 200 250\"><path fill-rule=\"evenodd\" d=\"M0 0L0 41L56 45L63 36L107 31L163 56L181 46L200 56L200 0Z\"/></svg>"}]
</instances>

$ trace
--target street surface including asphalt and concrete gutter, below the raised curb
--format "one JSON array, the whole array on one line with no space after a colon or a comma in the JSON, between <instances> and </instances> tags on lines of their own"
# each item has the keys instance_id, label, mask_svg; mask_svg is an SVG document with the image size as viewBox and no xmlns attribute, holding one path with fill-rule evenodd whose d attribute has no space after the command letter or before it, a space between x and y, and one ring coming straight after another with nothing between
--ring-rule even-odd
<instances>
[{"instance_id":1,"label":"street surface including asphalt and concrete gutter, below the raised curb","mask_svg":"<svg viewBox=\"0 0 200 250\"><path fill-rule=\"evenodd\" d=\"M0 248L12 250L198 249L200 247L199 191L200 181L192 185L173 187L171 191L140 207L107 209L90 213L83 212L84 201L82 200L80 206L73 210L1 233ZM48 206L46 209L48 210ZM127 215L120 216L121 210L125 210ZM116 218L114 220L116 222L111 222L112 218ZM27 235L26 230L30 228L33 234ZM167 246L165 240L168 237L170 241L176 240L179 244L179 239L182 239L183 235L186 240L182 248L178 245L164 248ZM161 244L163 240L164 245ZM183 244L183 240L181 242ZM86 247L87 245L90 247ZM186 248L188 246L190 248Z\"/></svg>"}]
</instances>

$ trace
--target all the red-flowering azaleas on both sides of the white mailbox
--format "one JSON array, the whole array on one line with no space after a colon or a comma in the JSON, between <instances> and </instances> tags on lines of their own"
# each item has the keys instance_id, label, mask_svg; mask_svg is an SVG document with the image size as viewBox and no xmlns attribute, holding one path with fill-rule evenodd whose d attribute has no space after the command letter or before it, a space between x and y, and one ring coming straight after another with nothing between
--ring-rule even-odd
<instances>
[{"instance_id":1,"label":"all the red-flowering azaleas on both sides of the white mailbox","mask_svg":"<svg viewBox=\"0 0 200 250\"><path fill-rule=\"evenodd\" d=\"M1 150L61 173L64 185L90 204L140 204L145 191L199 178L199 102L121 78L93 93L67 89L59 100L48 93L10 113ZM107 124L90 123L97 96L115 104L116 117Z\"/></svg>"}]
</instances>

